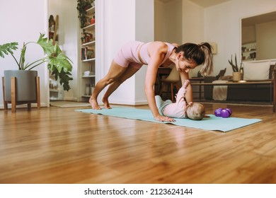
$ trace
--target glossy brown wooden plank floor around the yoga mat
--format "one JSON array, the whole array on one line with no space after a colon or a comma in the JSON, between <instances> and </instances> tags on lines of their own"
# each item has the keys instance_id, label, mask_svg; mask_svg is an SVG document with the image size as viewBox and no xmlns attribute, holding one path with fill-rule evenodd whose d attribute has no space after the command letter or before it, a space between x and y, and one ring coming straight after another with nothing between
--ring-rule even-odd
<instances>
[{"instance_id":1,"label":"glossy brown wooden plank floor around the yoga mat","mask_svg":"<svg viewBox=\"0 0 276 198\"><path fill-rule=\"evenodd\" d=\"M0 183L276 183L272 105L206 107L263 121L223 133L72 107L0 110Z\"/></svg>"}]
</instances>

